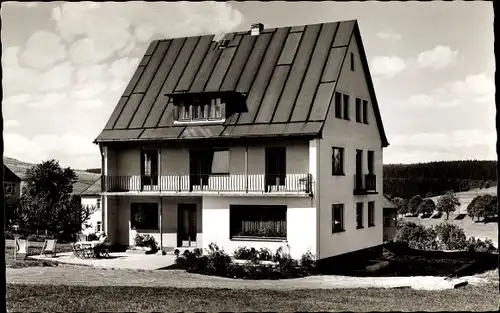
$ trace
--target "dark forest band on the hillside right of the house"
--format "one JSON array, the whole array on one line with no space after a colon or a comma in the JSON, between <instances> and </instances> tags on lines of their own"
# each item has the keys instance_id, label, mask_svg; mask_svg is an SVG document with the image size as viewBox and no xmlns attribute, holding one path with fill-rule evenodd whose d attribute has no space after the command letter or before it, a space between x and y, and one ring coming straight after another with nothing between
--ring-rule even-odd
<instances>
[{"instance_id":1,"label":"dark forest band on the hillside right of the house","mask_svg":"<svg viewBox=\"0 0 500 313\"><path fill-rule=\"evenodd\" d=\"M497 161L439 161L384 165L384 194L411 198L432 197L496 185Z\"/></svg>"}]
</instances>

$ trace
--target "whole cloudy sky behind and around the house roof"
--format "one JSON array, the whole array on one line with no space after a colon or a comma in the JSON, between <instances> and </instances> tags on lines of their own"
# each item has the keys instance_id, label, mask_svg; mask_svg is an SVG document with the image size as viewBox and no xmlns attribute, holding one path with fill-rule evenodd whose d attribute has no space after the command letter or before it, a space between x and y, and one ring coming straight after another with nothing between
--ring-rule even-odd
<instances>
[{"instance_id":1,"label":"whole cloudy sky behind and around the house roof","mask_svg":"<svg viewBox=\"0 0 500 313\"><path fill-rule=\"evenodd\" d=\"M496 160L492 2L2 2L4 155L100 167L149 42L357 19L384 163Z\"/></svg>"}]
</instances>

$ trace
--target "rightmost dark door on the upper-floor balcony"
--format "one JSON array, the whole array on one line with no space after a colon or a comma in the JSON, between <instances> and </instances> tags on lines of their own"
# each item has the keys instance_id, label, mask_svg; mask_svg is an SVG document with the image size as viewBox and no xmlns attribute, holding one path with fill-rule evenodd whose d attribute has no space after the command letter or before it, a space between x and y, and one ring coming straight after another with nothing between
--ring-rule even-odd
<instances>
[{"instance_id":1,"label":"rightmost dark door on the upper-floor balcony","mask_svg":"<svg viewBox=\"0 0 500 313\"><path fill-rule=\"evenodd\" d=\"M271 186L284 186L286 180L286 148L266 148L266 191Z\"/></svg>"}]
</instances>

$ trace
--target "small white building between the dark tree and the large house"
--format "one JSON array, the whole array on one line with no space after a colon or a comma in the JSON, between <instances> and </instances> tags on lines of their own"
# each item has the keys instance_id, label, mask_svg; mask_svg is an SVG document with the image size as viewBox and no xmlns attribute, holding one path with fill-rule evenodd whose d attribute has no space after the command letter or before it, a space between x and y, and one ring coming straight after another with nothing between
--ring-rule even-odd
<instances>
[{"instance_id":1,"label":"small white building between the dark tree and the large house","mask_svg":"<svg viewBox=\"0 0 500 313\"><path fill-rule=\"evenodd\" d=\"M82 233L84 234L95 234L102 231L102 208L100 193L101 179L98 179L80 194L83 206L95 207L94 213L90 216L88 221L86 221L82 225Z\"/></svg>"}]
</instances>

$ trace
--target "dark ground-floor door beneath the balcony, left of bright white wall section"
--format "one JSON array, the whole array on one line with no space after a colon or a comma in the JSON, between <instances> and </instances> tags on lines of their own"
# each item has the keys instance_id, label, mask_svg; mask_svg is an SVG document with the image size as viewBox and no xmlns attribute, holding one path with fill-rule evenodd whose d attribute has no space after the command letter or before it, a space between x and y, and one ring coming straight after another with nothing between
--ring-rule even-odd
<instances>
[{"instance_id":1,"label":"dark ground-floor door beneath the balcony, left of bright white wall section","mask_svg":"<svg viewBox=\"0 0 500 313\"><path fill-rule=\"evenodd\" d=\"M196 204L179 203L177 217L177 246L196 244Z\"/></svg>"}]
</instances>

